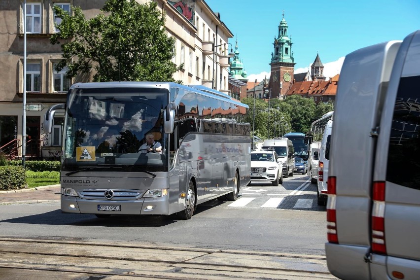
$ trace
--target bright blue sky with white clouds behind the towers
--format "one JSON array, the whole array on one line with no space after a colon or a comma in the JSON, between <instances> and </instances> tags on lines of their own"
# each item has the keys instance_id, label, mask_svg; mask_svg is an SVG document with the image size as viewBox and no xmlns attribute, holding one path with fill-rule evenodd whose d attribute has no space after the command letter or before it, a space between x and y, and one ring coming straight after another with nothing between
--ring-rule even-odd
<instances>
[{"instance_id":1,"label":"bright blue sky with white clouds behind the towers","mask_svg":"<svg viewBox=\"0 0 420 280\"><path fill-rule=\"evenodd\" d=\"M310 70L316 54L327 79L357 49L403 40L420 29L420 0L205 0L234 35L229 39L248 81L270 76L274 37L284 10L295 73Z\"/></svg>"}]
</instances>

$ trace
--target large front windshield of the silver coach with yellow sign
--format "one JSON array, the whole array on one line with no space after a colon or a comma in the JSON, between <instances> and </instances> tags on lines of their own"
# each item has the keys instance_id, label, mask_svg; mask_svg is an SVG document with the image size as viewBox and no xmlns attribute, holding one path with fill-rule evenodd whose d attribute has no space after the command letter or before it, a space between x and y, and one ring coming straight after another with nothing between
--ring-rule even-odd
<instances>
[{"instance_id":1,"label":"large front windshield of the silver coach with yellow sign","mask_svg":"<svg viewBox=\"0 0 420 280\"><path fill-rule=\"evenodd\" d=\"M63 141L63 171L82 168L167 171L168 137L163 133L164 88L83 88L68 94ZM146 152L140 146L146 136ZM144 145L142 146L144 147Z\"/></svg>"}]
</instances>

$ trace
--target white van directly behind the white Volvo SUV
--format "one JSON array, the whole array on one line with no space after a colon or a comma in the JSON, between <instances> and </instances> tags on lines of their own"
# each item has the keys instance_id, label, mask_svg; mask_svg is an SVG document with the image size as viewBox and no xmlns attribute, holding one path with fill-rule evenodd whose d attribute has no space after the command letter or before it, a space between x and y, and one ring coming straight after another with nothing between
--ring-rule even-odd
<instances>
[{"instance_id":1,"label":"white van directly behind the white Volvo SUV","mask_svg":"<svg viewBox=\"0 0 420 280\"><path fill-rule=\"evenodd\" d=\"M284 137L264 140L262 149L271 148L277 153L278 162L283 168L283 176L285 178L293 176L295 150L292 141Z\"/></svg>"}]
</instances>

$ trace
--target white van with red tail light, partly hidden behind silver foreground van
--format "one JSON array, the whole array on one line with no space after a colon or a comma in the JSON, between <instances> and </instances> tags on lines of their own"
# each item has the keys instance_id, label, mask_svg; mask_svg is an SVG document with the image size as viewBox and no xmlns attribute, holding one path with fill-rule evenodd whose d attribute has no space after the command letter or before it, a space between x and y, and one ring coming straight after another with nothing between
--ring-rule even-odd
<instances>
[{"instance_id":1,"label":"white van with red tail light, partly hidden behind silver foreground van","mask_svg":"<svg viewBox=\"0 0 420 280\"><path fill-rule=\"evenodd\" d=\"M321 150L319 152L319 163L318 163L318 189L316 202L318 205L327 204L327 190L328 190L328 166L330 162L330 146L331 146L331 131L332 131L332 120L329 120L325 125L324 134L321 140Z\"/></svg>"}]
</instances>

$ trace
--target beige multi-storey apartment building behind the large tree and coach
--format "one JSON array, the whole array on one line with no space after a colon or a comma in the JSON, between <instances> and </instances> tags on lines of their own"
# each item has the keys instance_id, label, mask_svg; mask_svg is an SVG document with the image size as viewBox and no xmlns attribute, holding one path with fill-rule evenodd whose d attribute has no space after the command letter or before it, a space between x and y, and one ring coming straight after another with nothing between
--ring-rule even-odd
<instances>
[{"instance_id":1,"label":"beige multi-storey apartment building behind the large tree and coach","mask_svg":"<svg viewBox=\"0 0 420 280\"><path fill-rule=\"evenodd\" d=\"M140 4L150 0L136 0ZM174 74L183 84L201 84L228 93L228 39L232 32L204 0L155 0L166 15L166 30L173 36L173 62L184 64ZM0 1L0 151L10 158L22 156L24 52L26 49L26 157L54 158L61 154L64 113L57 113L51 134L42 120L54 104L65 103L71 84L90 82L94 73L69 79L66 69L54 70L61 58L60 45L50 36L60 21L53 12L59 5L71 12L79 6L86 18L96 16L105 0L26 0L27 29L24 36L24 0ZM26 44L25 44L26 37Z\"/></svg>"}]
</instances>

